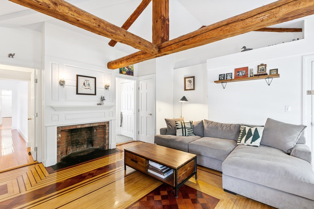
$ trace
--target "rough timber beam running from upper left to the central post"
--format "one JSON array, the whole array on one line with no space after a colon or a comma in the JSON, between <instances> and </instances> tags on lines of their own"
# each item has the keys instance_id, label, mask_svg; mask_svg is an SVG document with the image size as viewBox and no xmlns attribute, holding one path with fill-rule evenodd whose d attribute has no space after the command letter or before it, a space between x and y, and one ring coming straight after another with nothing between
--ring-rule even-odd
<instances>
[{"instance_id":1,"label":"rough timber beam running from upper left to the central post","mask_svg":"<svg viewBox=\"0 0 314 209\"><path fill-rule=\"evenodd\" d=\"M63 0L9 0L44 13L92 33L114 39L150 54L158 53L158 46L114 24L96 17Z\"/></svg>"}]
</instances>

